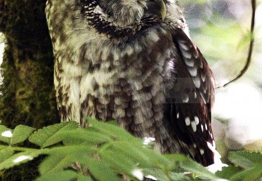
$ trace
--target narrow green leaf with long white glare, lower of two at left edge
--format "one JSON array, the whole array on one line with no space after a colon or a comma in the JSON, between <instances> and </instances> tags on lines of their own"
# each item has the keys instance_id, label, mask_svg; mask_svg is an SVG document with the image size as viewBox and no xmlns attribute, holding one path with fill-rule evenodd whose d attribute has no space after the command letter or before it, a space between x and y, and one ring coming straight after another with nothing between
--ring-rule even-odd
<instances>
[{"instance_id":1,"label":"narrow green leaf with long white glare, lower of two at left edge","mask_svg":"<svg viewBox=\"0 0 262 181\"><path fill-rule=\"evenodd\" d=\"M20 165L21 163L26 163L33 158L38 157L39 155L45 154L46 150L31 150L31 151L26 151L26 152L20 152L17 153L5 161L0 163L0 170L2 169L7 169L14 167L16 165Z\"/></svg>"}]
</instances>

